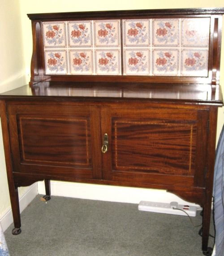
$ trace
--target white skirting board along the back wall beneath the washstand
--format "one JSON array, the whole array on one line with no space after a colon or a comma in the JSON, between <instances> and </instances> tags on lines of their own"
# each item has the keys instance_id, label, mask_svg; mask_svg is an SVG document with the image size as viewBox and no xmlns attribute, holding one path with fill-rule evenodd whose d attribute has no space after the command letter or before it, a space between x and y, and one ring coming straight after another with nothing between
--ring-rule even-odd
<instances>
[{"instance_id":1,"label":"white skirting board along the back wall beneath the washstand","mask_svg":"<svg viewBox=\"0 0 224 256\"><path fill-rule=\"evenodd\" d=\"M45 195L44 182L38 182L38 192ZM189 204L177 195L164 190L75 182L51 181L51 195L130 204L139 204L142 200L161 203L176 201L178 204ZM194 204L191 203L191 205ZM195 204L195 206L198 205Z\"/></svg>"}]
</instances>

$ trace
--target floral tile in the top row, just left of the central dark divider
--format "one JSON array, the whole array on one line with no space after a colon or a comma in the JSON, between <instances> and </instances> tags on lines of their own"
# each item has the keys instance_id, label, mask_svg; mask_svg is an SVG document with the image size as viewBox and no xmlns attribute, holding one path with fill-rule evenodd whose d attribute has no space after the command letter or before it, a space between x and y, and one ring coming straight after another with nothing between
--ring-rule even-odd
<instances>
[{"instance_id":1,"label":"floral tile in the top row, just left of the central dark divider","mask_svg":"<svg viewBox=\"0 0 224 256\"><path fill-rule=\"evenodd\" d=\"M95 47L120 47L120 21L100 20L94 22Z\"/></svg>"}]
</instances>

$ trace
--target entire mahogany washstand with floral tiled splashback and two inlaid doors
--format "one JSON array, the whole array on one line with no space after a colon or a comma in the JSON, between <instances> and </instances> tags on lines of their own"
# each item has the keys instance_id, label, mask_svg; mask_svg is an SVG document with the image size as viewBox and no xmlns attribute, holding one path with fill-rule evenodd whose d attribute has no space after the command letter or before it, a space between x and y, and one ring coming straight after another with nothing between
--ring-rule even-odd
<instances>
[{"instance_id":1,"label":"entire mahogany washstand with floral tiled splashback and two inlaid doors","mask_svg":"<svg viewBox=\"0 0 224 256\"><path fill-rule=\"evenodd\" d=\"M13 234L21 186L44 180L46 200L50 180L156 188L203 207L211 255L223 14L28 14L30 87L0 95Z\"/></svg>"}]
</instances>

